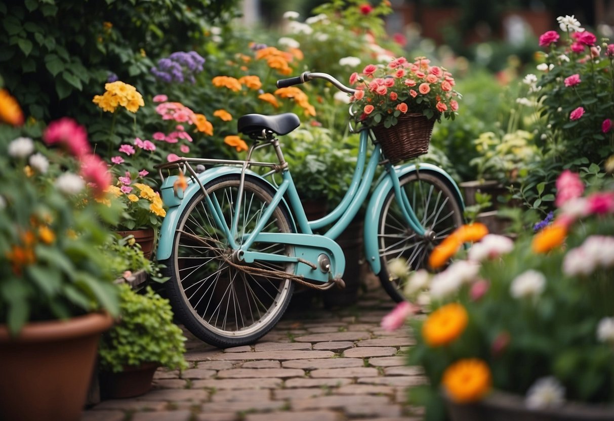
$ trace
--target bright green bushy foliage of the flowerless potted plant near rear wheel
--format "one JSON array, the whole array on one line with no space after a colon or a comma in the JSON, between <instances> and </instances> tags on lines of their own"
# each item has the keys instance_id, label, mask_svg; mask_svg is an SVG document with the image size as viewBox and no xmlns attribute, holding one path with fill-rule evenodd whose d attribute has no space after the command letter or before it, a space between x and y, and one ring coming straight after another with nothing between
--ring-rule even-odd
<instances>
[{"instance_id":1,"label":"bright green bushy foliage of the flowerless potted plant near rear wheel","mask_svg":"<svg viewBox=\"0 0 614 421\"><path fill-rule=\"evenodd\" d=\"M103 334L99 363L103 371L117 373L128 366L159 363L168 369L186 369L184 334L173 323L168 299L147 287L144 294L120 288L119 322Z\"/></svg>"}]
</instances>

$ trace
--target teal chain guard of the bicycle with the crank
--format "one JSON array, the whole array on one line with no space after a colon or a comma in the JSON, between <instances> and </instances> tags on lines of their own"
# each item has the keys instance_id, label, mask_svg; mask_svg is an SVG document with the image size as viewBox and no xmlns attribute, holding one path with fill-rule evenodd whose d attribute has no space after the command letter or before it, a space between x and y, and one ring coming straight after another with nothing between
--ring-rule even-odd
<instances>
[{"instance_id":1,"label":"teal chain guard of the bicycle with the crank","mask_svg":"<svg viewBox=\"0 0 614 421\"><path fill-rule=\"evenodd\" d=\"M339 244L330 238L314 234L260 233L254 242L287 244L294 250L289 256L241 250L238 256L246 263L254 261L297 263L295 275L317 282L325 283L330 279L343 277L345 256Z\"/></svg>"}]
</instances>

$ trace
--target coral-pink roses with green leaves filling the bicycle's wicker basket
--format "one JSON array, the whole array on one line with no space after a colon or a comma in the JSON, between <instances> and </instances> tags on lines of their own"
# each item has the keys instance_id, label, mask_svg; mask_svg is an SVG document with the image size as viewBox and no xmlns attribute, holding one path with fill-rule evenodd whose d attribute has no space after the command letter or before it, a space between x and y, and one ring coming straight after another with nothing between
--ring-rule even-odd
<instances>
[{"instance_id":1,"label":"coral-pink roses with green leaves filling the bicycle's wicker basket","mask_svg":"<svg viewBox=\"0 0 614 421\"><path fill-rule=\"evenodd\" d=\"M349 83L357 89L350 98L354 118L367 126L389 128L406 113L454 118L461 98L452 74L431 66L426 57L413 63L399 57L386 65L368 64L362 72L352 73Z\"/></svg>"}]
</instances>

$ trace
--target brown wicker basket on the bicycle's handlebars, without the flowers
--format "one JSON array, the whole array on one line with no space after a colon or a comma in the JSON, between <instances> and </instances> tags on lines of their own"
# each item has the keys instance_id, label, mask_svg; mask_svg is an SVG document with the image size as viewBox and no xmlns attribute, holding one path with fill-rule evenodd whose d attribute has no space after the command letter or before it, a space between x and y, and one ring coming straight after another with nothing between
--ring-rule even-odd
<instances>
[{"instance_id":1,"label":"brown wicker basket on the bicycle's handlebars, without the flowers","mask_svg":"<svg viewBox=\"0 0 614 421\"><path fill-rule=\"evenodd\" d=\"M391 128L379 125L371 129L384 155L394 164L427 153L433 125L435 118L429 120L422 114L403 114Z\"/></svg>"}]
</instances>

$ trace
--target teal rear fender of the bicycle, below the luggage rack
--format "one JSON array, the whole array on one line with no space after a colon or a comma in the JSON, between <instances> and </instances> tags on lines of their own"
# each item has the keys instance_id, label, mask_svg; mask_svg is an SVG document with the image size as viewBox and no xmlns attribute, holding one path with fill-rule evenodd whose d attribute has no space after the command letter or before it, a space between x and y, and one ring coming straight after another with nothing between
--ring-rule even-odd
<instances>
[{"instance_id":1,"label":"teal rear fender of the bicycle, below the luggage rack","mask_svg":"<svg viewBox=\"0 0 614 421\"><path fill-rule=\"evenodd\" d=\"M211 168L200 172L200 174L198 174L198 179L203 185L206 185L206 183L210 182L211 180L218 177L227 176L229 174L241 174L241 168L230 166ZM263 177L260 177L253 171L247 170L246 174L258 177L271 185L268 180L263 179ZM198 183L194 182L191 177L186 177L188 187L184 191L178 190L177 193L179 194L175 195L173 183L176 182L177 178L177 176L166 177L160 188L162 201L165 206L168 206L168 210L166 210L166 216L162 220L162 225L160 226L160 240L158 241L158 249L156 252L156 257L158 260L166 260L171 257L175 230L177 224L179 223L179 217L187 204L190 203L190 199L192 199L192 197L196 195L198 191L200 191L200 186ZM273 187L273 185L271 185L271 187Z\"/></svg>"}]
</instances>

